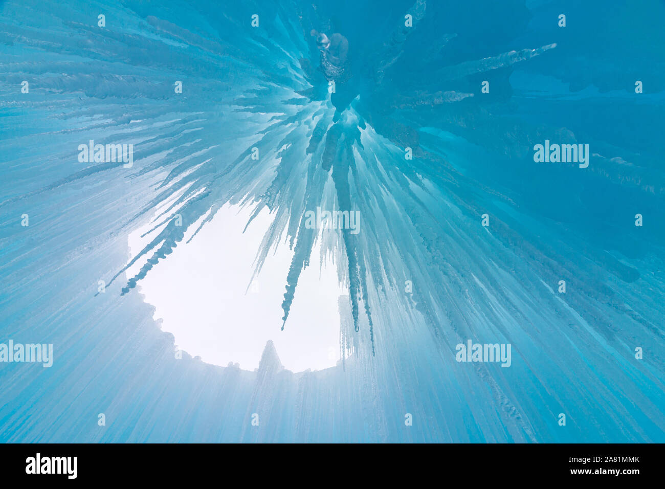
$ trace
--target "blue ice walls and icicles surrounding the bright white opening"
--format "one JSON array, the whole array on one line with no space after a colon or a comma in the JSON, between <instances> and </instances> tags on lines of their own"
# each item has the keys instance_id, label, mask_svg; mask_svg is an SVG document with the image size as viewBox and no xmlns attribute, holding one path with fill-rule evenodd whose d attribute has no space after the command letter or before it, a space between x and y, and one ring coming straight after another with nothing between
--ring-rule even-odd
<instances>
[{"instance_id":1,"label":"blue ice walls and icicles surrounding the bright white opening","mask_svg":"<svg viewBox=\"0 0 665 489\"><path fill-rule=\"evenodd\" d=\"M648 3L559 27L542 1L2 2L0 343L54 359L0 363L0 440L664 442ZM90 140L132 166L81 161ZM589 167L535 163L545 140ZM336 367L176 358L132 289L225 204L270 212L257 274L292 254L276 334L334 257ZM317 208L360 232L307 226ZM469 340L511 365L457 361Z\"/></svg>"}]
</instances>

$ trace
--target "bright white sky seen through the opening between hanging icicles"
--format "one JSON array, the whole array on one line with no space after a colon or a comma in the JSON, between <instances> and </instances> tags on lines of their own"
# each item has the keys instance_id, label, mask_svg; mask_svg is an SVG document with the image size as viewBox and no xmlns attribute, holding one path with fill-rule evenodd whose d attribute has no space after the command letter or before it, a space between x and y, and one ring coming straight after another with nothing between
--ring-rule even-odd
<instances>
[{"instance_id":1,"label":"bright white sky seen through the opening between hanging icicles","mask_svg":"<svg viewBox=\"0 0 665 489\"><path fill-rule=\"evenodd\" d=\"M344 293L335 267L327 263L319 275L319 249L315 249L281 331L281 301L293 253L288 245L280 245L277 254L269 254L254 280L258 291L250 287L245 293L257 249L272 222L264 210L243 234L250 213L237 206L219 210L192 242L178 244L138 282L144 300L154 305L154 318L163 319L162 329L176 337L176 345L207 363L225 367L232 361L241 369L256 369L265 343L272 340L286 369L334 366L340 356L337 298ZM149 228L130 234L131 253L154 236L140 237ZM144 261L128 270L128 276Z\"/></svg>"}]
</instances>

